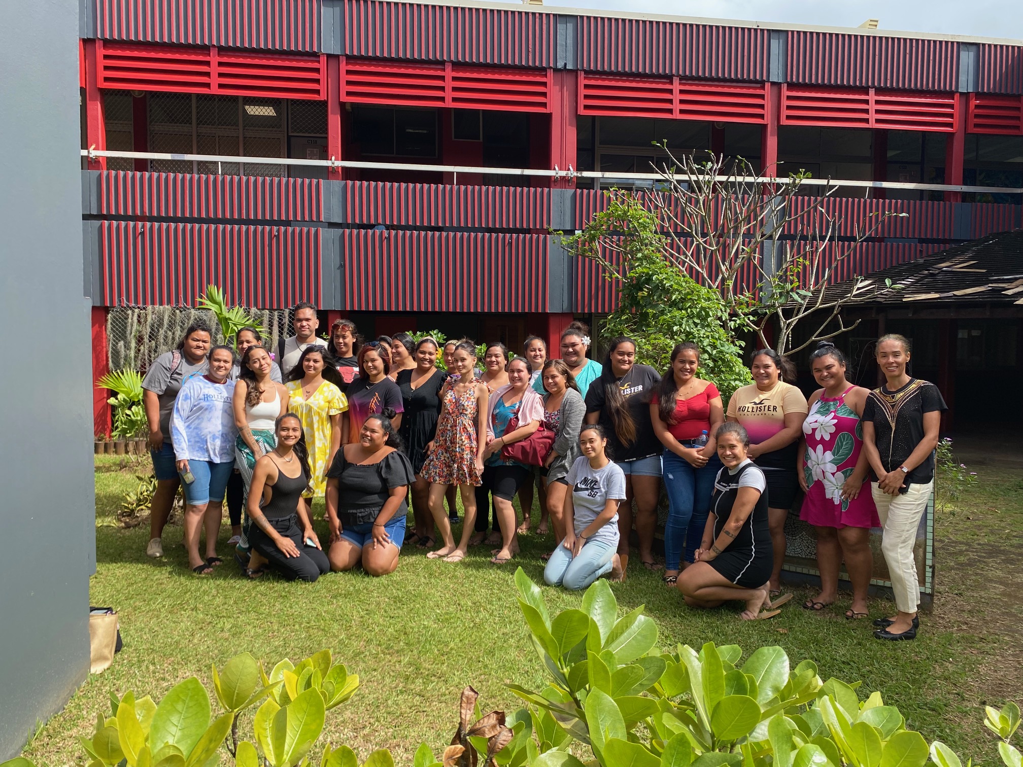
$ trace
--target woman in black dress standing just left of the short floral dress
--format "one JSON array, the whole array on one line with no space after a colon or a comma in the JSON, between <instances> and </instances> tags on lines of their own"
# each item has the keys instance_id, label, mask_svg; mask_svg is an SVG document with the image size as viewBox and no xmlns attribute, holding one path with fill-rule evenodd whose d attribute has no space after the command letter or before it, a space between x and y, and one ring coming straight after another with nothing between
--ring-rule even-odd
<instances>
[{"instance_id":1,"label":"woman in black dress standing just left of the short floral dress","mask_svg":"<svg viewBox=\"0 0 1023 767\"><path fill-rule=\"evenodd\" d=\"M405 455L412 464L415 483L412 485L412 516L415 531L409 538L419 548L433 548L437 543L434 535L434 515L430 513L430 482L419 476L427 460L430 443L437 435L437 419L440 417L441 400L438 396L447 373L437 369L437 342L422 339L415 345L413 357L415 367L398 373L398 389L405 412L402 414L401 428L398 430L405 444Z\"/></svg>"}]
</instances>

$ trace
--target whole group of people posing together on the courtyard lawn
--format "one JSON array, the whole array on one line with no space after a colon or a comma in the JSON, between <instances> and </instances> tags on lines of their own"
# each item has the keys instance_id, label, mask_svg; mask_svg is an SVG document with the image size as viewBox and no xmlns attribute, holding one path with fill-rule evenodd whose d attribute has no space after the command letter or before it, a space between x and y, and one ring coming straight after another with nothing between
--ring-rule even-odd
<instances>
[{"instance_id":1,"label":"whole group of people posing together on the courtyard lawn","mask_svg":"<svg viewBox=\"0 0 1023 767\"><path fill-rule=\"evenodd\" d=\"M791 598L781 590L785 522L802 491L821 582L803 606L824 611L837 600L844 562L853 589L845 617L866 618L870 529L883 527L897 614L875 621L875 635L916 636L914 544L945 406L936 387L907 374L909 343L900 335L878 342L886 384L873 392L848 382L843 354L825 342L810 358L820 389L809 400L792 363L763 349L752 358L753 382L725 406L700 377L692 343L674 348L662 374L636 362L628 337L610 341L603 364L589 359L579 322L561 334L560 357L531 336L521 356L494 343L482 360L468 340L397 333L364 342L347 319L319 339L309 304L295 308L293 325L296 335L275 354L255 328L239 331L232 349L212 347L209 330L194 325L149 367L144 405L158 481L150 556L163 553L182 484L196 574L222 563L226 497L230 542L247 575L272 568L306 581L359 566L387 575L406 542L451 563L486 544L491 561L504 565L519 552L538 495L538 531L557 541L544 578L583 589L625 577L633 529L640 562L662 569L654 539L663 483L664 583L695 607L744 600L742 617L759 620ZM325 548L312 524L317 497Z\"/></svg>"}]
</instances>

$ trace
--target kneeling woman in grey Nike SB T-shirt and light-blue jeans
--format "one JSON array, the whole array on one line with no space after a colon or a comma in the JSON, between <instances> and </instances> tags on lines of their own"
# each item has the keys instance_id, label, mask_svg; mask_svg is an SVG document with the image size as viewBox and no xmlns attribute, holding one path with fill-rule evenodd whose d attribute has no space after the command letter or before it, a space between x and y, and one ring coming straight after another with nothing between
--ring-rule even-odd
<instances>
[{"instance_id":1,"label":"kneeling woman in grey Nike SB T-shirt and light-blue jeans","mask_svg":"<svg viewBox=\"0 0 1023 767\"><path fill-rule=\"evenodd\" d=\"M625 500L625 473L607 454L608 438L596 424L582 427L576 458L565 482L565 540L558 546L543 580L548 586L578 591L609 573L621 580L618 557L618 504Z\"/></svg>"}]
</instances>

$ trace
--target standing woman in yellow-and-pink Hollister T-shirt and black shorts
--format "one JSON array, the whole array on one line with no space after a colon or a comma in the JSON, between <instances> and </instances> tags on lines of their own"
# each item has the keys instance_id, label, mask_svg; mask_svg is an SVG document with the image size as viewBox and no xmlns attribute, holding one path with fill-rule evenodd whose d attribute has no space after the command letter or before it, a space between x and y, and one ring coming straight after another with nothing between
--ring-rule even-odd
<instances>
[{"instance_id":1,"label":"standing woman in yellow-and-pink Hollister T-shirt and black shorts","mask_svg":"<svg viewBox=\"0 0 1023 767\"><path fill-rule=\"evenodd\" d=\"M796 501L799 480L796 456L806 418L806 397L782 380L783 371L795 378L795 366L772 349L753 355L754 382L743 387L728 401L728 420L739 421L750 436L748 455L767 479L767 516L774 549L770 597L781 594L785 561L785 521Z\"/></svg>"}]
</instances>

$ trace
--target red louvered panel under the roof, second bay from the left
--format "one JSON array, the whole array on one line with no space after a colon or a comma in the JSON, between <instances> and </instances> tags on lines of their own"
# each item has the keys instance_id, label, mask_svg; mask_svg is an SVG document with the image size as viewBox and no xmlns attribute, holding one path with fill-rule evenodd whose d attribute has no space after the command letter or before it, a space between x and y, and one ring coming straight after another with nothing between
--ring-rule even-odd
<instances>
[{"instance_id":1,"label":"red louvered panel under the roof, second bay from the left","mask_svg":"<svg viewBox=\"0 0 1023 767\"><path fill-rule=\"evenodd\" d=\"M342 56L341 100L462 109L550 111L546 70Z\"/></svg>"}]
</instances>

